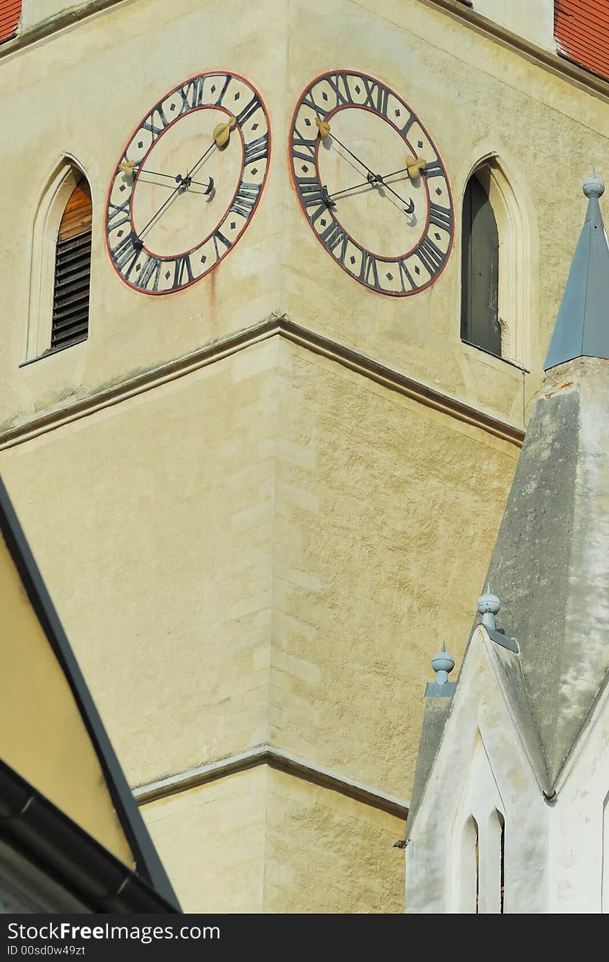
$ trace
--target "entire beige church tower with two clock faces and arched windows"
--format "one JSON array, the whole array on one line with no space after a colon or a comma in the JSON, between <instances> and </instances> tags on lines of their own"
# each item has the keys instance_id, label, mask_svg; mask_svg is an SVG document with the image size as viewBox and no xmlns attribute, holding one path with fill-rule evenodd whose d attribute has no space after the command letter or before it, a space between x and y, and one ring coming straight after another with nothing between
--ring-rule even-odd
<instances>
[{"instance_id":1,"label":"entire beige church tower with two clock faces and arched windows","mask_svg":"<svg viewBox=\"0 0 609 962\"><path fill-rule=\"evenodd\" d=\"M0 0L0 473L187 911L402 910L609 137L553 6Z\"/></svg>"}]
</instances>

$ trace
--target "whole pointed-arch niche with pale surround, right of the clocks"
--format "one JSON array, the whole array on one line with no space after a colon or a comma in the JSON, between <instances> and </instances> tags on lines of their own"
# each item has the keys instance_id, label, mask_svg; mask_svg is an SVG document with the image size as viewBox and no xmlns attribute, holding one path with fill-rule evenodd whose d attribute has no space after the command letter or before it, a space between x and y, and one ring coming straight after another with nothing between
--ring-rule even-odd
<instances>
[{"instance_id":1,"label":"whole pointed-arch niche with pale surround, right of the clocks","mask_svg":"<svg viewBox=\"0 0 609 962\"><path fill-rule=\"evenodd\" d=\"M462 204L461 340L524 367L529 360L530 230L503 165L488 154L469 172ZM474 248L472 250L472 243ZM479 263L472 263L476 258ZM476 338L474 272L482 279L487 337ZM495 330L494 318L496 323Z\"/></svg>"}]
</instances>

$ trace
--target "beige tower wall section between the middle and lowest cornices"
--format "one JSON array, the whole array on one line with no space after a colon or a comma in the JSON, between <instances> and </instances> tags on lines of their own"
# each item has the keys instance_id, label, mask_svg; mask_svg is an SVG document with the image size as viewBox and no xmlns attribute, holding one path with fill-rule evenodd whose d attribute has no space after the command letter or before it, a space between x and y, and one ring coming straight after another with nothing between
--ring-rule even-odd
<instances>
[{"instance_id":1,"label":"beige tower wall section between the middle and lowest cornices","mask_svg":"<svg viewBox=\"0 0 609 962\"><path fill-rule=\"evenodd\" d=\"M270 741L407 798L517 456L274 337L0 470L133 784Z\"/></svg>"}]
</instances>

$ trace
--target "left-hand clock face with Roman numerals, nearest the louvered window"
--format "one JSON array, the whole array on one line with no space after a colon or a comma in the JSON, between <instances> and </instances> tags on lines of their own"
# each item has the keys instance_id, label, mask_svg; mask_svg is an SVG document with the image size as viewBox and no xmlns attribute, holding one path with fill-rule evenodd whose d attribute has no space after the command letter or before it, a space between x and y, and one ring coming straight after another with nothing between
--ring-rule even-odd
<instances>
[{"instance_id":1,"label":"left-hand clock face with Roman numerals, nearest the louvered window","mask_svg":"<svg viewBox=\"0 0 609 962\"><path fill-rule=\"evenodd\" d=\"M165 94L127 141L108 191L106 240L121 278L147 294L180 291L239 241L265 187L265 105L232 73L203 73Z\"/></svg>"}]
</instances>

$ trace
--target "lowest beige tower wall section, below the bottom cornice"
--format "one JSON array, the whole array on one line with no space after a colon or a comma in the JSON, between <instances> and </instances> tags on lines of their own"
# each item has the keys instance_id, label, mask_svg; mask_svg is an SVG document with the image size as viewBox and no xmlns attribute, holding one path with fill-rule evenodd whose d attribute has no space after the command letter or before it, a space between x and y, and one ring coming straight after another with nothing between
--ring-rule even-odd
<instances>
[{"instance_id":1,"label":"lowest beige tower wall section, below the bottom cornice","mask_svg":"<svg viewBox=\"0 0 609 962\"><path fill-rule=\"evenodd\" d=\"M403 823L260 766L142 806L186 912L401 912Z\"/></svg>"}]
</instances>

